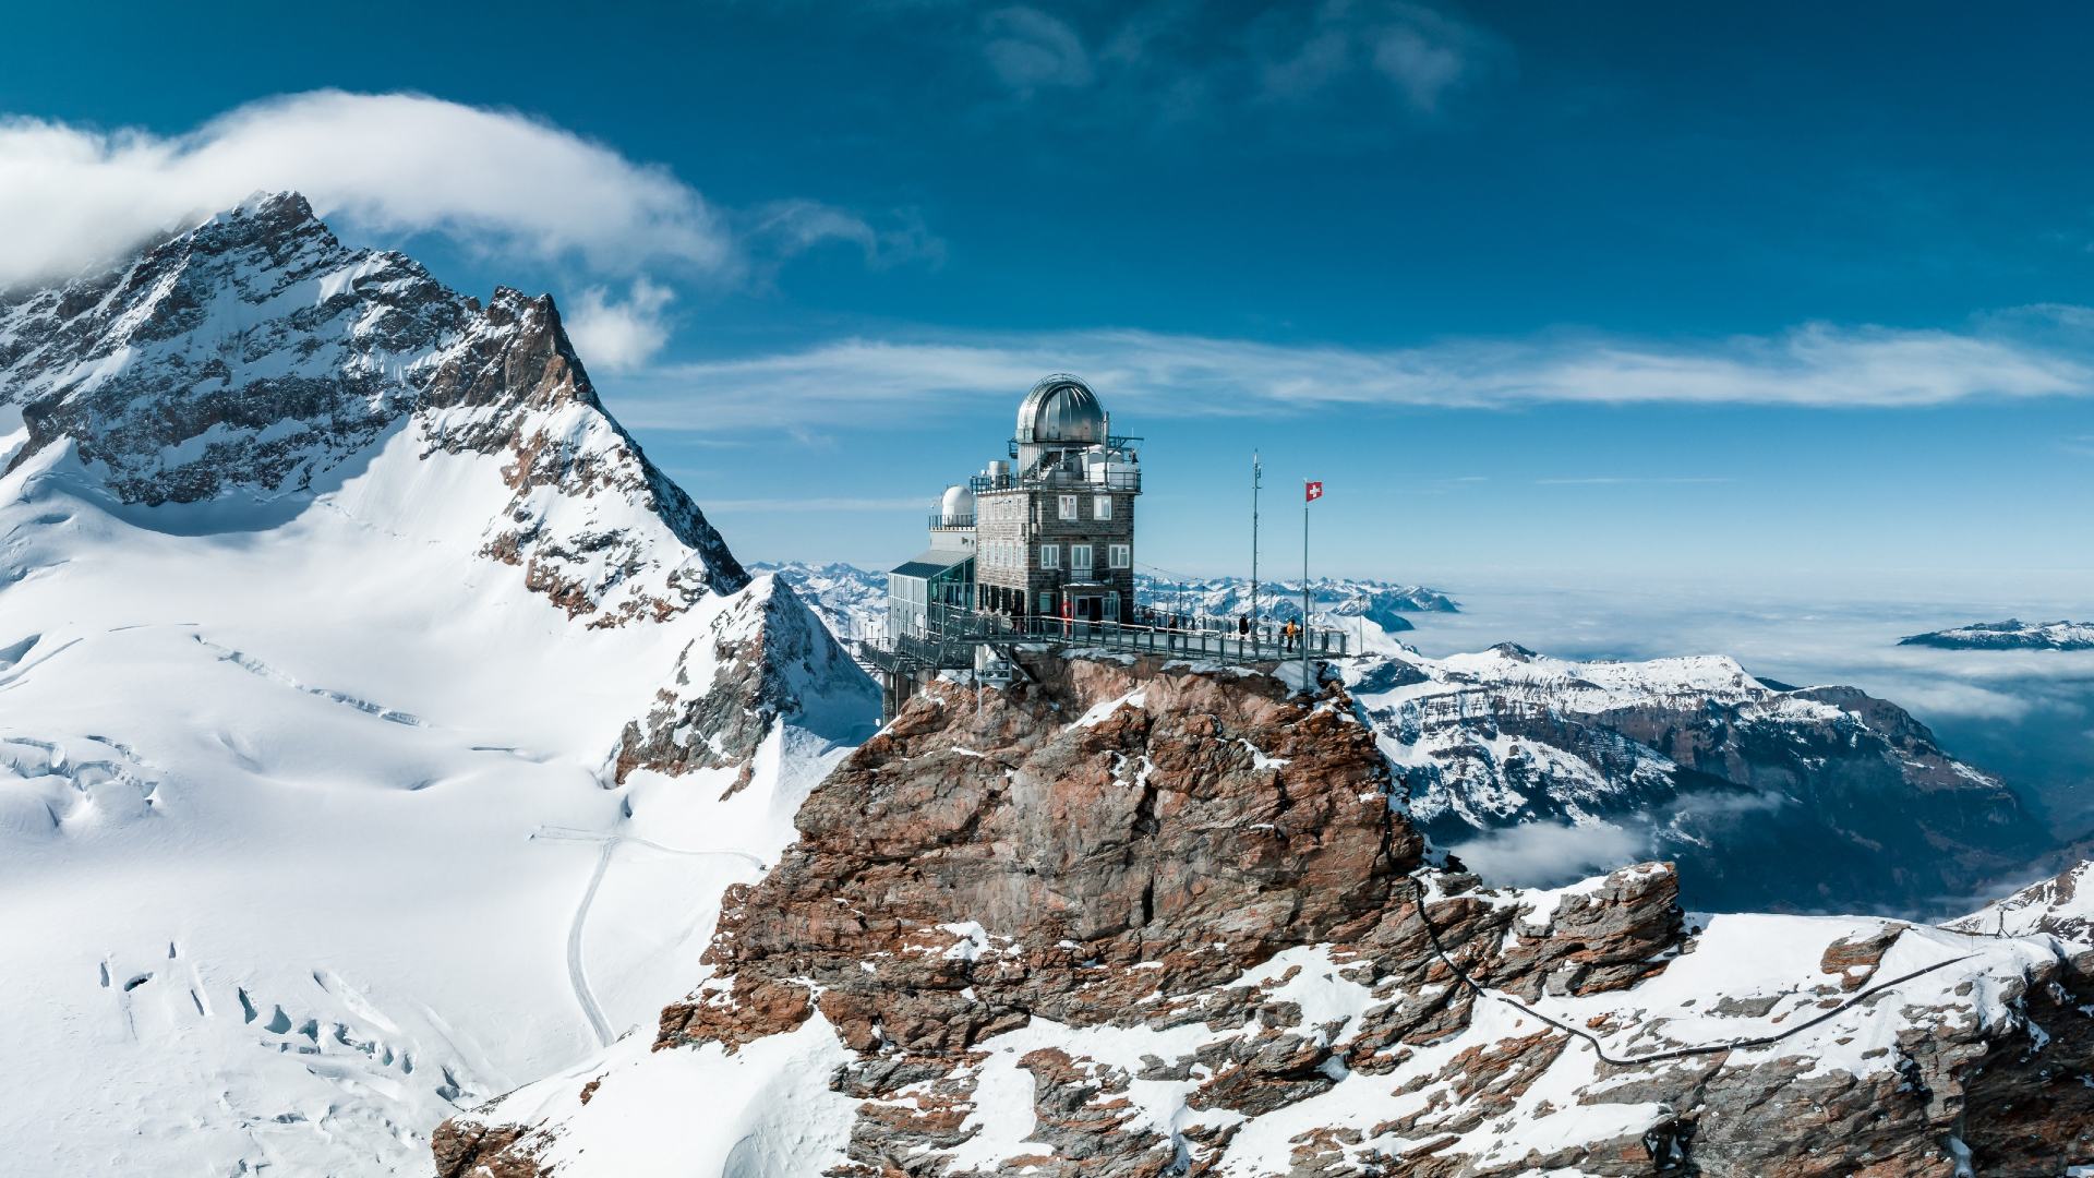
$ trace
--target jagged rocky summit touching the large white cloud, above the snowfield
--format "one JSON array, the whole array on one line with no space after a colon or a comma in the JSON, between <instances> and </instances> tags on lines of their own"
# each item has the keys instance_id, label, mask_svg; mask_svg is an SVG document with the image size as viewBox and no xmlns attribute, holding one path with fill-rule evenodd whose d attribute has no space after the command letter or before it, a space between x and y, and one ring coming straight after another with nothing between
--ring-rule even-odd
<instances>
[{"instance_id":1,"label":"jagged rocky summit touching the large white cloud, above the snowfield","mask_svg":"<svg viewBox=\"0 0 2094 1178\"><path fill-rule=\"evenodd\" d=\"M0 405L21 417L8 470L69 440L128 505L383 503L364 522L385 528L431 507L404 503L444 482L427 459L484 467L463 476L475 514L446 511L463 532L429 539L521 568L593 625L748 585L603 411L551 296L480 304L402 254L346 247L297 193L0 298Z\"/></svg>"}]
</instances>

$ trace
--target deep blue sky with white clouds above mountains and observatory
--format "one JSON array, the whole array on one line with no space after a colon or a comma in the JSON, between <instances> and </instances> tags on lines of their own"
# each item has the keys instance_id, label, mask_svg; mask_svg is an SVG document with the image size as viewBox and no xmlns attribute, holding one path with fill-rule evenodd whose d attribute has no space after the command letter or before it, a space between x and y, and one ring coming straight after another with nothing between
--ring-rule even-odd
<instances>
[{"instance_id":1,"label":"deep blue sky with white clouds above mountains and observatory","mask_svg":"<svg viewBox=\"0 0 2094 1178\"><path fill-rule=\"evenodd\" d=\"M1826 8L15 10L0 279L302 189L551 289L756 560L907 555L1070 369L1164 570L1261 446L1319 572L2094 597L2094 15Z\"/></svg>"}]
</instances>

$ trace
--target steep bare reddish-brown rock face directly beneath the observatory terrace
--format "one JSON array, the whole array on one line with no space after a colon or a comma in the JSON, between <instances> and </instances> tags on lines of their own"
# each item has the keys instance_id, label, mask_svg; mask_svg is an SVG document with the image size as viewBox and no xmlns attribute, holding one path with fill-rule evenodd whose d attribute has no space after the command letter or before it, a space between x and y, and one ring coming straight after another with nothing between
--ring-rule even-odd
<instances>
[{"instance_id":1,"label":"steep bare reddish-brown rock face directly beneath the observatory terrace","mask_svg":"<svg viewBox=\"0 0 2094 1178\"><path fill-rule=\"evenodd\" d=\"M1363 935L1420 861L1344 708L1273 679L1028 669L980 717L972 690L934 688L806 801L802 841L720 918L708 960L737 1006L819 979L854 1046L911 1052L1032 1015L1133 1017L1156 989ZM689 1038L672 1006L662 1046Z\"/></svg>"}]
</instances>

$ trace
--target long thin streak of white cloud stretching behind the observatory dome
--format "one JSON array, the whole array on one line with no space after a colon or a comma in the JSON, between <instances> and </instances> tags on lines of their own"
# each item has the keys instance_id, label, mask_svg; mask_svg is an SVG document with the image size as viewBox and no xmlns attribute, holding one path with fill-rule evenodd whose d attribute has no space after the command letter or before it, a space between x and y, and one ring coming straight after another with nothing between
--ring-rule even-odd
<instances>
[{"instance_id":1,"label":"long thin streak of white cloud stretching behind the observatory dome","mask_svg":"<svg viewBox=\"0 0 2094 1178\"><path fill-rule=\"evenodd\" d=\"M1041 373L1064 369L1083 373L1114 405L1148 417L1541 402L1910 409L1983 396L2094 392L2094 363L2084 358L2084 348L1887 327L1805 325L1702 346L1591 335L1386 350L1072 331L836 340L798 352L683 365L630 384L620 413L655 428L697 417L708 428L840 415L865 421L871 405L1007 398ZM907 421L905 415L888 419Z\"/></svg>"}]
</instances>

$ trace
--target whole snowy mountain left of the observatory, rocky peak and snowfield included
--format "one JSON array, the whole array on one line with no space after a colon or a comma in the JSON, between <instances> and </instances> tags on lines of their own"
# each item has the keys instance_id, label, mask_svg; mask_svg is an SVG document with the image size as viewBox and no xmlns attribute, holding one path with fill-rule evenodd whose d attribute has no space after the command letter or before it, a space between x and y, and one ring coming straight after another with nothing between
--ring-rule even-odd
<instances>
[{"instance_id":1,"label":"whole snowy mountain left of the observatory, rocky peak and snowfield included","mask_svg":"<svg viewBox=\"0 0 2094 1178\"><path fill-rule=\"evenodd\" d=\"M877 706L833 646L766 658L804 608L547 300L482 308L295 197L0 302L0 402L17 1172L427 1172L440 1119L689 985ZM745 755L626 748L766 677L802 706L752 696Z\"/></svg>"}]
</instances>

